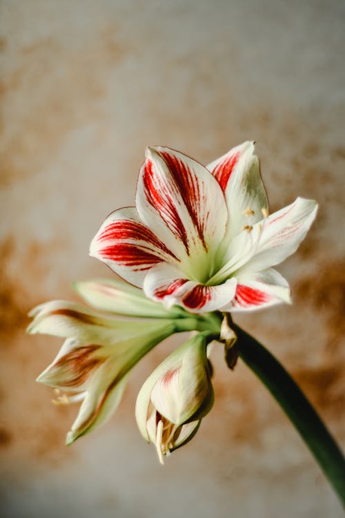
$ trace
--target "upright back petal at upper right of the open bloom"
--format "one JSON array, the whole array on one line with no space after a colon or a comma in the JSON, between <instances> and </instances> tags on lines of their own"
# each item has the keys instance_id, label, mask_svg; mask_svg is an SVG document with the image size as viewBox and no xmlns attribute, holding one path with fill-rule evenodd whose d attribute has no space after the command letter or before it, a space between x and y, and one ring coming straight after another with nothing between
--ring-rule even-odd
<instances>
[{"instance_id":1,"label":"upright back petal at upper right of the open bloom","mask_svg":"<svg viewBox=\"0 0 345 518\"><path fill-rule=\"evenodd\" d=\"M268 200L260 175L254 142L244 142L208 165L221 189L228 207L228 240L247 225L253 226L268 213Z\"/></svg>"}]
</instances>

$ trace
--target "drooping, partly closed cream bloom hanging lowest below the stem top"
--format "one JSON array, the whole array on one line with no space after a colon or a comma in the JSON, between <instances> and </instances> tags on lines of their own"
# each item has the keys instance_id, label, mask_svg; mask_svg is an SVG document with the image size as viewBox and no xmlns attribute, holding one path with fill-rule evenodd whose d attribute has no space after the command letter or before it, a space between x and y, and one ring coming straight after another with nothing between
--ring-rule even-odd
<instances>
[{"instance_id":1,"label":"drooping, partly closed cream bloom hanging lowest below the stem top","mask_svg":"<svg viewBox=\"0 0 345 518\"><path fill-rule=\"evenodd\" d=\"M148 377L135 414L144 439L155 443L159 460L194 436L213 405L206 344L208 333L190 338Z\"/></svg>"}]
</instances>

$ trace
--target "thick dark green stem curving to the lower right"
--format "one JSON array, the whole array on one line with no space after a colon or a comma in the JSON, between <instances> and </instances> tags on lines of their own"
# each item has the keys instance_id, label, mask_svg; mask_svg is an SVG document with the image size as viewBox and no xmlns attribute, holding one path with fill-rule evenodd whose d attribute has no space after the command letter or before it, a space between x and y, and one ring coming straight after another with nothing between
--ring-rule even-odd
<instances>
[{"instance_id":1,"label":"thick dark green stem curving to the lower right","mask_svg":"<svg viewBox=\"0 0 345 518\"><path fill-rule=\"evenodd\" d=\"M275 397L302 439L313 453L328 481L345 507L345 459L337 443L284 367L240 327L237 334L239 356Z\"/></svg>"}]
</instances>

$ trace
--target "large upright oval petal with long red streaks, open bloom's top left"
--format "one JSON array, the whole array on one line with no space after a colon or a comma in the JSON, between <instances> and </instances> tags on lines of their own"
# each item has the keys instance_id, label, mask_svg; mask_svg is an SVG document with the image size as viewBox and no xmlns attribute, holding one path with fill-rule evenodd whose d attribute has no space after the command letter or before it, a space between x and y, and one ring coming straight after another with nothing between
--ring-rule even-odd
<instances>
[{"instance_id":1,"label":"large upright oval petal with long red streaks, open bloom's top left","mask_svg":"<svg viewBox=\"0 0 345 518\"><path fill-rule=\"evenodd\" d=\"M147 148L136 204L140 218L179 258L213 251L224 236L219 184L204 166L170 148Z\"/></svg>"}]
</instances>

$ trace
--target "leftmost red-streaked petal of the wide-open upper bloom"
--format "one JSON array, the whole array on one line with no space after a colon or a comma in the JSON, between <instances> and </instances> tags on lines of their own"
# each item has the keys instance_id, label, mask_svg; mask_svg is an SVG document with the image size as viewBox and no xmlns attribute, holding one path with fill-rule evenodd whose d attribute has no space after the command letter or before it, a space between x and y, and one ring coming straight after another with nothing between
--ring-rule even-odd
<instances>
[{"instance_id":1,"label":"leftmost red-streaked petal of the wide-open upper bloom","mask_svg":"<svg viewBox=\"0 0 345 518\"><path fill-rule=\"evenodd\" d=\"M146 271L162 261L178 262L166 244L141 222L134 207L112 212L90 244L90 256L142 286Z\"/></svg>"}]
</instances>

